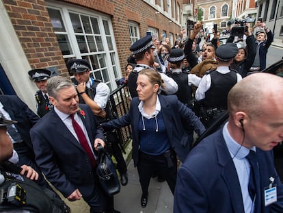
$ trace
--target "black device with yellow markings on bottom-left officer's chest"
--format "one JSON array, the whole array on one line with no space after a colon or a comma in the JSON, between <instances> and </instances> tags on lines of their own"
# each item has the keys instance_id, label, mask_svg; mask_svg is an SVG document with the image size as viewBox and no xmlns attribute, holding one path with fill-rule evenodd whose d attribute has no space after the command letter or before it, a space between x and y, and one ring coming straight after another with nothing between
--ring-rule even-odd
<instances>
[{"instance_id":1,"label":"black device with yellow markings on bottom-left officer's chest","mask_svg":"<svg viewBox=\"0 0 283 213\"><path fill-rule=\"evenodd\" d=\"M0 190L0 205L1 203L10 203L16 206L26 204L27 192L25 189L16 182L13 182L5 191L3 188Z\"/></svg>"}]
</instances>

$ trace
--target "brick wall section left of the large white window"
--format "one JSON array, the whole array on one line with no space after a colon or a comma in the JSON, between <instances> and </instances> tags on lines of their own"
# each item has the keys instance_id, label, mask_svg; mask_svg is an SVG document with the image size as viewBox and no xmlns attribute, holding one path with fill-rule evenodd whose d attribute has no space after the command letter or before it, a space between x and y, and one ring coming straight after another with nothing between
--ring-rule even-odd
<instances>
[{"instance_id":1,"label":"brick wall section left of the large white window","mask_svg":"<svg viewBox=\"0 0 283 213\"><path fill-rule=\"evenodd\" d=\"M3 3L31 68L56 66L59 73L67 76L44 1L3 0Z\"/></svg>"}]
</instances>

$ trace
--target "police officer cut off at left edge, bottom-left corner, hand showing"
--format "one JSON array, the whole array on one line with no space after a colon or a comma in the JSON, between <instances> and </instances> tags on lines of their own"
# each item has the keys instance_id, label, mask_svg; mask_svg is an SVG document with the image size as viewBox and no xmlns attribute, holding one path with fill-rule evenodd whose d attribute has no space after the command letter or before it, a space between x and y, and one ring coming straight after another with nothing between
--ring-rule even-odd
<instances>
[{"instance_id":1,"label":"police officer cut off at left edge, bottom-left corner, hand showing","mask_svg":"<svg viewBox=\"0 0 283 213\"><path fill-rule=\"evenodd\" d=\"M8 162L13 145L7 126L14 123L0 114L0 212L65 212L64 203L53 192L33 181L38 179L33 168Z\"/></svg>"}]
</instances>

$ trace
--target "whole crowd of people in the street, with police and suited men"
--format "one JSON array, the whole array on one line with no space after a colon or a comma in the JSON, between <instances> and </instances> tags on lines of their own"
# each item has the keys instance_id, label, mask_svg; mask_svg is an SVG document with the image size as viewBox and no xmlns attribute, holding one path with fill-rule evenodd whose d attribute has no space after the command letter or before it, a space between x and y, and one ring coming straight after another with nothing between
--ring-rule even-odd
<instances>
[{"instance_id":1,"label":"whole crowd of people in the street, with police and suited men","mask_svg":"<svg viewBox=\"0 0 283 213\"><path fill-rule=\"evenodd\" d=\"M28 75L38 87L37 114L18 97L0 95L1 173L14 168L22 179L51 192L59 205L46 206L57 212L70 208L49 183L69 201L84 199L92 213L119 212L98 181L98 146L116 158L126 186L115 129L131 125L142 208L148 204L150 179L158 176L174 195L176 213L282 212L283 185L272 149L283 140L278 92L283 79L260 73L273 41L271 30L260 21L246 26L244 42L231 36L221 45L219 32L213 31L211 42L201 48L202 23L194 25L186 42L173 46L150 35L137 40L125 77L117 81L131 96L129 112L120 118L110 110L109 87L91 77L87 60L66 64L76 84L51 77L47 69L32 69ZM193 148L194 136L227 113L228 121ZM8 178L2 176L0 187Z\"/></svg>"}]
</instances>

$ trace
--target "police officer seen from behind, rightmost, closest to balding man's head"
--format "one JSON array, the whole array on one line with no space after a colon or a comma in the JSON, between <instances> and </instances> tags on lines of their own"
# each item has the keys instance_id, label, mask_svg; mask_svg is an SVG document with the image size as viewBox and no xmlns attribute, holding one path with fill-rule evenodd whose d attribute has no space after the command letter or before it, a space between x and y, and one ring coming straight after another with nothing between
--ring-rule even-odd
<instances>
[{"instance_id":1,"label":"police officer seen from behind, rightmost, closest to balding man's head","mask_svg":"<svg viewBox=\"0 0 283 213\"><path fill-rule=\"evenodd\" d=\"M196 90L196 100L201 101L201 121L209 127L227 110L228 92L239 82L242 77L229 66L234 56L238 53L237 46L233 43L221 45L216 50L218 66L216 70L208 71L202 77Z\"/></svg>"}]
</instances>

